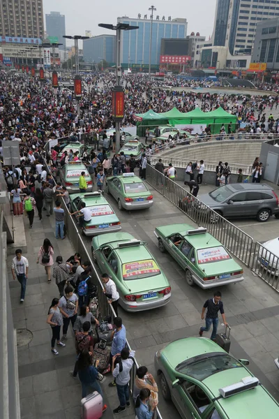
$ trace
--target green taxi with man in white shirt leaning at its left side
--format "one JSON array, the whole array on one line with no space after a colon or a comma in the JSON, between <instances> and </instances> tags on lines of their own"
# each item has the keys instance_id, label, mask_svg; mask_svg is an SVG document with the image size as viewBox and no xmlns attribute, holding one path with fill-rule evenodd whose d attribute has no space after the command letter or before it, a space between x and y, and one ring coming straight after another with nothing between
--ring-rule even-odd
<instances>
[{"instance_id":1,"label":"green taxi with man in white shirt leaning at its left side","mask_svg":"<svg viewBox=\"0 0 279 419\"><path fill-rule=\"evenodd\" d=\"M101 192L78 193L70 196L71 212L76 212L82 208L85 203L86 208L91 211L91 222L86 223L82 233L84 235L98 235L103 233L113 233L121 230L118 217L114 210L103 197ZM76 217L79 214L76 214ZM80 217L77 217L77 219Z\"/></svg>"}]
</instances>

